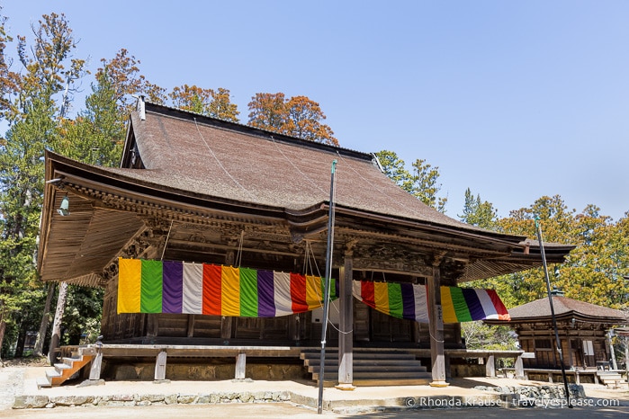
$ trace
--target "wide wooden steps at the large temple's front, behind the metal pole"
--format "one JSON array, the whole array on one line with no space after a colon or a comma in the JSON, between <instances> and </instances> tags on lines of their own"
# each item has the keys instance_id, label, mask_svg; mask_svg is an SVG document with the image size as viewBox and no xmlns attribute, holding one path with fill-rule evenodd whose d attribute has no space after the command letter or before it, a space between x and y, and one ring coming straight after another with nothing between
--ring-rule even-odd
<instances>
[{"instance_id":1,"label":"wide wooden steps at the large temple's front, behind the metal pole","mask_svg":"<svg viewBox=\"0 0 629 419\"><path fill-rule=\"evenodd\" d=\"M312 379L319 382L321 352L304 350L300 358ZM326 352L324 386L338 383L338 351ZM354 350L355 386L417 386L432 381L432 375L412 353L403 351Z\"/></svg>"}]
</instances>

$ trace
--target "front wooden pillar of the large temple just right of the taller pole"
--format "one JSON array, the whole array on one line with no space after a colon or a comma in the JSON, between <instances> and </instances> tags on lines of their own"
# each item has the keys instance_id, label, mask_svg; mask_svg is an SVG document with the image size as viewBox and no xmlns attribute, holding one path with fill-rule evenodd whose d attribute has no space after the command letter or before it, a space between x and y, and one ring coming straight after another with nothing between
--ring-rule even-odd
<instances>
[{"instance_id":1,"label":"front wooden pillar of the large temple just right of the taller pole","mask_svg":"<svg viewBox=\"0 0 629 419\"><path fill-rule=\"evenodd\" d=\"M338 319L338 386L354 389L354 299L352 297L353 259L346 254L345 265L339 270Z\"/></svg>"}]
</instances>

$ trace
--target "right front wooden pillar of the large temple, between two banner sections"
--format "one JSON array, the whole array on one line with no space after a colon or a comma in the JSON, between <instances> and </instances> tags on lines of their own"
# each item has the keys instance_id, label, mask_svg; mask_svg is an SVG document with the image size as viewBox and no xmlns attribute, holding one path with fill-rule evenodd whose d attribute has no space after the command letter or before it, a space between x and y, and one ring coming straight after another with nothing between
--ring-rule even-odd
<instances>
[{"instance_id":1,"label":"right front wooden pillar of the large temple, between two banner sections","mask_svg":"<svg viewBox=\"0 0 629 419\"><path fill-rule=\"evenodd\" d=\"M441 270L440 260L433 265L433 276L427 278L428 317L430 323L430 359L432 361L433 387L445 387L444 316L441 311Z\"/></svg>"}]
</instances>

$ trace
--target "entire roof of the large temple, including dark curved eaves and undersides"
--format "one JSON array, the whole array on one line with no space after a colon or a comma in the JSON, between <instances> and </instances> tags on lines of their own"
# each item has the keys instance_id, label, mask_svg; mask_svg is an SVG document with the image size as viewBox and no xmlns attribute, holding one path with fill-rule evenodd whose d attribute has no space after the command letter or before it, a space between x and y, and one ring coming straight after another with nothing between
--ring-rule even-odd
<instances>
[{"instance_id":1,"label":"entire roof of the large temple, including dark curved eaves and undersides","mask_svg":"<svg viewBox=\"0 0 629 419\"><path fill-rule=\"evenodd\" d=\"M263 223L265 232L257 233L260 238L249 250L271 250L275 245L275 254L294 259L299 254L294 245L301 238L325 245L320 234L327 231L334 161L337 226L347 240L361 237L359 242L369 244L370 252L383 260L405 257L429 268L429 260L418 258L444 255L450 258L457 281L541 264L535 241L474 227L436 211L393 183L372 154L139 104L130 115L119 168L85 165L47 153L38 260L42 280L103 284L99 278L107 264L132 245L139 231L164 220L172 227L173 220L183 225L213 219L214 225L231 223L238 232L242 226ZM61 217L56 210L66 194L71 217ZM215 231L181 228L182 248L209 239L192 237L199 232ZM277 238L282 231L292 236L292 243ZM233 247L227 235L213 240L217 249ZM549 263L562 263L573 246L544 248Z\"/></svg>"}]
</instances>

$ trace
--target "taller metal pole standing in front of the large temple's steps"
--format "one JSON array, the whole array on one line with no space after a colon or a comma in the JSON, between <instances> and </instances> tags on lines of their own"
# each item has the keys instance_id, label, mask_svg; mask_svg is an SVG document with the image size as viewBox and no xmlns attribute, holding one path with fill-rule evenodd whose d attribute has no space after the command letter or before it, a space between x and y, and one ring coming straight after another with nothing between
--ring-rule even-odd
<instances>
[{"instance_id":1,"label":"taller metal pole standing in front of the large temple's steps","mask_svg":"<svg viewBox=\"0 0 629 419\"><path fill-rule=\"evenodd\" d=\"M328 332L328 308L329 285L332 277L332 250L334 247L334 174L337 160L332 162L332 174L329 186L329 212L328 212L328 252L326 254L326 277L324 278L325 290L323 292L323 327L321 329L321 358L319 361L319 400L317 414L323 412L323 379L326 369L326 334Z\"/></svg>"}]
</instances>

